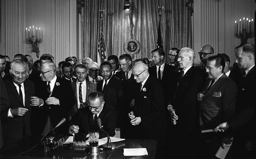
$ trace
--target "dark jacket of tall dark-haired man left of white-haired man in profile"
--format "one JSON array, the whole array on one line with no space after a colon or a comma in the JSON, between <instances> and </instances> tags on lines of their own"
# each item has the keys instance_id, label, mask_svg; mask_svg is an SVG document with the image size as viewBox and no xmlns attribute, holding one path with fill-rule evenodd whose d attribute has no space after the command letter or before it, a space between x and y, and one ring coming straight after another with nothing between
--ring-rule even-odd
<instances>
[{"instance_id":1,"label":"dark jacket of tall dark-haired man left of white-haired man in profile","mask_svg":"<svg viewBox=\"0 0 256 159\"><path fill-rule=\"evenodd\" d=\"M174 70L175 70L175 67L165 64L162 79L159 80L159 82L163 88L163 91L164 91L165 109L166 109L166 105L168 104L169 99L170 99L169 92L171 89L173 89L173 85L170 82L170 80L172 80L172 78L173 78L171 72ZM156 65L149 68L149 74L151 76L157 78L157 66Z\"/></svg>"}]
</instances>

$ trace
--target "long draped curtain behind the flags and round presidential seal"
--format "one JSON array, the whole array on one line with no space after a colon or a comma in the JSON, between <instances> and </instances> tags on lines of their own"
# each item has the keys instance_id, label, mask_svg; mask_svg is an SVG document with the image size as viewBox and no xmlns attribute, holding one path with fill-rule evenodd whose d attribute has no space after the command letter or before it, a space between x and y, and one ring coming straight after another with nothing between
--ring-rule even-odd
<instances>
[{"instance_id":1,"label":"long draped curtain behind the flags and round presidential seal","mask_svg":"<svg viewBox=\"0 0 256 159\"><path fill-rule=\"evenodd\" d=\"M132 4L132 21L134 39L139 41L139 52L134 59L148 57L156 48L159 4L162 9L163 45L168 62L168 52L172 47L192 47L191 13L188 0L129 0ZM111 54L118 57L125 52L125 42L131 39L130 18L123 13L125 0L79 0L81 16L82 56L97 60L98 39L100 36L100 7L103 12L103 35L106 57Z\"/></svg>"}]
</instances>

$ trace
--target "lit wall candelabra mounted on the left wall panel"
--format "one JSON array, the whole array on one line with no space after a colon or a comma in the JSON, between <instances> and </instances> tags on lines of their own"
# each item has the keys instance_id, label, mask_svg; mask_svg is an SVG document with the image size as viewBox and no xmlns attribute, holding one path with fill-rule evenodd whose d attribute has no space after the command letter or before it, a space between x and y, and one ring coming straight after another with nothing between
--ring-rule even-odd
<instances>
[{"instance_id":1,"label":"lit wall candelabra mounted on the left wall panel","mask_svg":"<svg viewBox=\"0 0 256 159\"><path fill-rule=\"evenodd\" d=\"M31 52L35 52L37 54L37 58L39 58L39 43L43 40L43 30L41 28L37 28L34 26L29 26L29 29L26 27L25 30L25 38L26 43L32 45Z\"/></svg>"}]
</instances>

